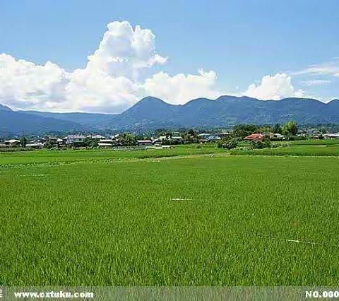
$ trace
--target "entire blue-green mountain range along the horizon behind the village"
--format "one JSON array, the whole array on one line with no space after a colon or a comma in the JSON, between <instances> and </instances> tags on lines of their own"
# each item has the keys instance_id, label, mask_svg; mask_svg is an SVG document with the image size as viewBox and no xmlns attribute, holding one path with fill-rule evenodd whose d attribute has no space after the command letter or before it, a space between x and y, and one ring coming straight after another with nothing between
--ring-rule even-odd
<instances>
[{"instance_id":1,"label":"entire blue-green mountain range along the horizon behind the village","mask_svg":"<svg viewBox=\"0 0 339 301\"><path fill-rule=\"evenodd\" d=\"M159 128L275 124L339 123L339 100L324 103L305 98L257 100L246 96L198 98L185 105L170 105L159 98L143 98L121 114L13 111L0 105L0 133L46 131L143 131Z\"/></svg>"}]
</instances>

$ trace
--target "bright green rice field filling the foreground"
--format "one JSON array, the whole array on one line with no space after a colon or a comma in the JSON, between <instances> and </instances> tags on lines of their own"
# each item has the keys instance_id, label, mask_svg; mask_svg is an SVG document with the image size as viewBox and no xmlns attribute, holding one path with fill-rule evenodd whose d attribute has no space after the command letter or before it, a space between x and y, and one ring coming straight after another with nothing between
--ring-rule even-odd
<instances>
[{"instance_id":1,"label":"bright green rice field filling the foreground","mask_svg":"<svg viewBox=\"0 0 339 301\"><path fill-rule=\"evenodd\" d=\"M19 165L0 183L0 285L339 283L336 158Z\"/></svg>"}]
</instances>

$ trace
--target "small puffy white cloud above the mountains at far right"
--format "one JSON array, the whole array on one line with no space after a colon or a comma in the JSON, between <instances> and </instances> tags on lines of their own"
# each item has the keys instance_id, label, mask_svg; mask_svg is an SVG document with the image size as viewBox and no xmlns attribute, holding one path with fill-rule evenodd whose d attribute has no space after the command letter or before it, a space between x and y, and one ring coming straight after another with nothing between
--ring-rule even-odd
<instances>
[{"instance_id":1,"label":"small puffy white cloud above the mountains at far right","mask_svg":"<svg viewBox=\"0 0 339 301\"><path fill-rule=\"evenodd\" d=\"M300 98L304 95L304 91L295 90L291 77L286 73L277 73L275 76L263 76L260 84L249 85L243 94L260 100L280 100L288 97Z\"/></svg>"}]
</instances>

